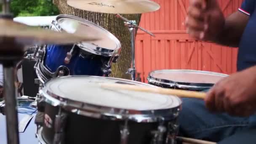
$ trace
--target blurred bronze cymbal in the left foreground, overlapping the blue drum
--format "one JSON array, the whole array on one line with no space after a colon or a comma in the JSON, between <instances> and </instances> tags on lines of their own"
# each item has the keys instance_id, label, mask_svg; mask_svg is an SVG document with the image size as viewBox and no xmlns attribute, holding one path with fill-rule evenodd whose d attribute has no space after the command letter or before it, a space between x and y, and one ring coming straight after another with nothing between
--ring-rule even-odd
<instances>
[{"instance_id":1,"label":"blurred bronze cymbal in the left foreground, overlapping the blue drum","mask_svg":"<svg viewBox=\"0 0 256 144\"><path fill-rule=\"evenodd\" d=\"M55 32L53 30L29 27L8 19L0 19L0 38L15 38L22 45L71 44L101 39L96 37L97 34L87 36L79 33Z\"/></svg>"}]
</instances>

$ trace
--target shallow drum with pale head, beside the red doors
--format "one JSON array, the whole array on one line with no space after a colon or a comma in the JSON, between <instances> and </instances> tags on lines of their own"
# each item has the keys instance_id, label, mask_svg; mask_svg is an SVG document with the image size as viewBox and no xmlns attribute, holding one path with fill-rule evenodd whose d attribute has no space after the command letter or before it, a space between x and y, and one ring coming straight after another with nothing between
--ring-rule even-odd
<instances>
[{"instance_id":1,"label":"shallow drum with pale head, beside the red doors","mask_svg":"<svg viewBox=\"0 0 256 144\"><path fill-rule=\"evenodd\" d=\"M204 91L228 75L197 70L164 69L149 73L148 83L163 88Z\"/></svg>"}]
</instances>

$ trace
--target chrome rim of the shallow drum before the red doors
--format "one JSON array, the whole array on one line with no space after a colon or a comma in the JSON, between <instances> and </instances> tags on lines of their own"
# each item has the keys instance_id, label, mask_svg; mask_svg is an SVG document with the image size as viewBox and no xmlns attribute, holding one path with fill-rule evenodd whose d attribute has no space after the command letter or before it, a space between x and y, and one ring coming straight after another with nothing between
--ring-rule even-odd
<instances>
[{"instance_id":1,"label":"chrome rim of the shallow drum before the red doors","mask_svg":"<svg viewBox=\"0 0 256 144\"><path fill-rule=\"evenodd\" d=\"M216 76L222 76L222 77L228 77L229 75L218 73L218 72L208 72L208 71L199 71L199 70L190 70L190 69L162 69L162 70L155 70L152 72L149 72L149 76L147 77L147 80L149 83L153 83L155 85L168 85L170 87L176 87L176 88L192 88L192 89L205 89L205 88L211 88L215 83L186 83L186 82L175 82L172 80L167 79L161 79L153 77L152 74L155 73L161 73L161 72L196 72L199 74L211 74Z\"/></svg>"}]
</instances>

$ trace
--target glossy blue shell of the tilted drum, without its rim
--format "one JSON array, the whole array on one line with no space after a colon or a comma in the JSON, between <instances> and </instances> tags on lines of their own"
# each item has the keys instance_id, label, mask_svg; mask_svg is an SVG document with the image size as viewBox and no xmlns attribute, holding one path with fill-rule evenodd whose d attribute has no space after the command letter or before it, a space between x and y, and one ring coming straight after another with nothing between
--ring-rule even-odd
<instances>
[{"instance_id":1,"label":"glossy blue shell of the tilted drum, without its rim","mask_svg":"<svg viewBox=\"0 0 256 144\"><path fill-rule=\"evenodd\" d=\"M76 45L69 64L65 64L64 59L72 47L73 45L47 45L43 65L52 73L58 67L65 66L69 69L69 75L104 76L102 69L106 67L110 57L89 53Z\"/></svg>"}]
</instances>

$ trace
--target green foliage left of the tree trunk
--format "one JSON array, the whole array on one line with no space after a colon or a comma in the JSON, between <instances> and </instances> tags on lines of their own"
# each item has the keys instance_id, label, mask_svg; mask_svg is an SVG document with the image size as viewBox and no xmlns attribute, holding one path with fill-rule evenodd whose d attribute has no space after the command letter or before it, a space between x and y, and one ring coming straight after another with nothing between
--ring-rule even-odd
<instances>
[{"instance_id":1,"label":"green foliage left of the tree trunk","mask_svg":"<svg viewBox=\"0 0 256 144\"><path fill-rule=\"evenodd\" d=\"M59 14L52 0L12 0L11 12L14 16L54 16Z\"/></svg>"}]
</instances>

